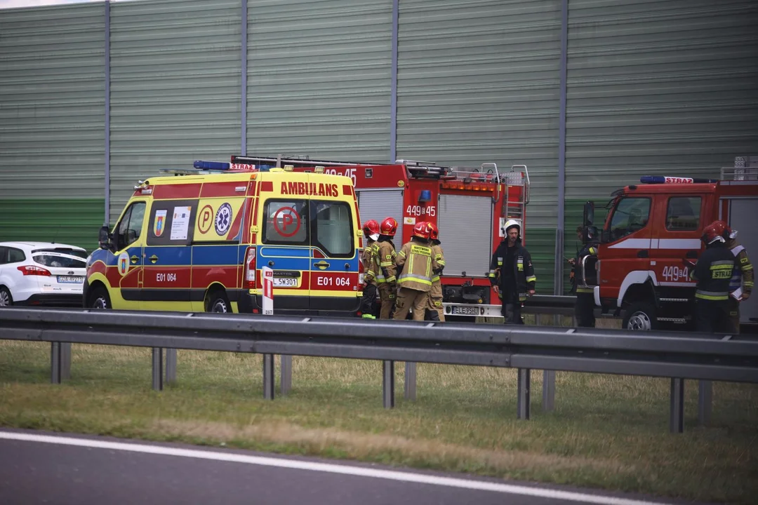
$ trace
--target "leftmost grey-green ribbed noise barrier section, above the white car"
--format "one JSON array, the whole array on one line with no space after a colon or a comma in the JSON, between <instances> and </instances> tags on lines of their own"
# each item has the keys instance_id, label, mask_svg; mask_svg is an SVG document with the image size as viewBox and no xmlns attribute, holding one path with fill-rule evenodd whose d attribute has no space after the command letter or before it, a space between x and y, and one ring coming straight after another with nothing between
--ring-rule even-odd
<instances>
[{"instance_id":1,"label":"leftmost grey-green ribbed noise barrier section, above the white car","mask_svg":"<svg viewBox=\"0 0 758 505\"><path fill-rule=\"evenodd\" d=\"M104 11L2 10L0 198L102 196Z\"/></svg>"}]
</instances>

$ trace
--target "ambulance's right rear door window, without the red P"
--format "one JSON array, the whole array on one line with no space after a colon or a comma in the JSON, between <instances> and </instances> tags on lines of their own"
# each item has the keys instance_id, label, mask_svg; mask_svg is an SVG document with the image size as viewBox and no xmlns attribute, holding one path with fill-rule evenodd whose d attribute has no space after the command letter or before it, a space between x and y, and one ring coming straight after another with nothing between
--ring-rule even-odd
<instances>
[{"instance_id":1,"label":"ambulance's right rear door window, without the red P","mask_svg":"<svg viewBox=\"0 0 758 505\"><path fill-rule=\"evenodd\" d=\"M344 201L312 201L315 223L313 245L321 248L329 257L353 257L351 207Z\"/></svg>"}]
</instances>

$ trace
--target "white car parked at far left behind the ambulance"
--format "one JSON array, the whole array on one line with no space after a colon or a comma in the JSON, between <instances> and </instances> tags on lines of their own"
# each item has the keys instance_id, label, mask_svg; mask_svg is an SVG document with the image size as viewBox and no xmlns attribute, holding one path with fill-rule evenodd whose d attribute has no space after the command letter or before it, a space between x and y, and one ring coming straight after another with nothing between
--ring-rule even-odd
<instances>
[{"instance_id":1,"label":"white car parked at far left behind the ambulance","mask_svg":"<svg viewBox=\"0 0 758 505\"><path fill-rule=\"evenodd\" d=\"M81 307L86 257L75 245L0 242L0 307Z\"/></svg>"}]
</instances>

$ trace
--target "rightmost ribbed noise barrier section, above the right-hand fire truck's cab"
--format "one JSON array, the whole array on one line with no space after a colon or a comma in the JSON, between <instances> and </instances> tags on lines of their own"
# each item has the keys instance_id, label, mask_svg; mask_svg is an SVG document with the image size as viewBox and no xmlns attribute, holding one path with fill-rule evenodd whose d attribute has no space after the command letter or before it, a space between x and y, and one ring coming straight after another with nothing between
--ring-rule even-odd
<instances>
[{"instance_id":1,"label":"rightmost ribbed noise barrier section, above the right-hand fire truck's cab","mask_svg":"<svg viewBox=\"0 0 758 505\"><path fill-rule=\"evenodd\" d=\"M566 197L758 151L758 3L572 0ZM567 223L567 227L568 227Z\"/></svg>"}]
</instances>

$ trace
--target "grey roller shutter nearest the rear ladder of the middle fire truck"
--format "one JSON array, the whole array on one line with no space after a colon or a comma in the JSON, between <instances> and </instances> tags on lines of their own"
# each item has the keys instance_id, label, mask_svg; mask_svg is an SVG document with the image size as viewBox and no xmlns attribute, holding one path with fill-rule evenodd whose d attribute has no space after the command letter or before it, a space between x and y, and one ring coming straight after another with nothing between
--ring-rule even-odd
<instances>
[{"instance_id":1,"label":"grey roller shutter nearest the rear ladder of the middle fire truck","mask_svg":"<svg viewBox=\"0 0 758 505\"><path fill-rule=\"evenodd\" d=\"M440 195L439 213L445 275L484 277L493 251L490 195Z\"/></svg>"}]
</instances>

